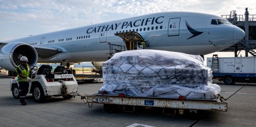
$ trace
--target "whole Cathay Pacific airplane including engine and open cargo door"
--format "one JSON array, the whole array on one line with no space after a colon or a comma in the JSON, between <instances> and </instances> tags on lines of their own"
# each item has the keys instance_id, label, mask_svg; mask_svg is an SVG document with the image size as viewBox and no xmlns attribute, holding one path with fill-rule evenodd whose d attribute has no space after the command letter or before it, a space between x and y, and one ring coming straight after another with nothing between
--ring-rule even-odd
<instances>
[{"instance_id":1,"label":"whole Cathay Pacific airplane including engine and open cargo door","mask_svg":"<svg viewBox=\"0 0 256 127\"><path fill-rule=\"evenodd\" d=\"M28 57L29 65L102 62L123 50L145 47L205 55L244 36L242 29L219 16L162 12L0 42L0 66L15 71L21 56Z\"/></svg>"}]
</instances>

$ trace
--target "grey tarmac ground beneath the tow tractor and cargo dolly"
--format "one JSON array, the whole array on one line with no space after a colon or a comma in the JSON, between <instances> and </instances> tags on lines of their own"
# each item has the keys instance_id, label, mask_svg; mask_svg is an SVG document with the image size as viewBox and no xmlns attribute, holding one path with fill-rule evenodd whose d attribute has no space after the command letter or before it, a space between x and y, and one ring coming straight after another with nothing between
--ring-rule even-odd
<instances>
[{"instance_id":1,"label":"grey tarmac ground beneath the tow tractor and cargo dolly","mask_svg":"<svg viewBox=\"0 0 256 127\"><path fill-rule=\"evenodd\" d=\"M228 103L227 112L166 116L152 111L109 114L103 105L93 104L89 108L79 97L51 97L46 103L35 103L28 95L28 105L21 106L12 97L10 80L11 77L0 75L1 126L256 126L256 83L226 85L214 80ZM93 94L101 86L102 83L79 84L78 92Z\"/></svg>"}]
</instances>

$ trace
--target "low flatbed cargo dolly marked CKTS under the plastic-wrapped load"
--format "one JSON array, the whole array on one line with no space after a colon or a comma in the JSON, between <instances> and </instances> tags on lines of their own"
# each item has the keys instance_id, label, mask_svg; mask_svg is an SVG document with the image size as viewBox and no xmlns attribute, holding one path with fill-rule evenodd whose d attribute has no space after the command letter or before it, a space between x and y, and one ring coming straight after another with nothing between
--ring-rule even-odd
<instances>
[{"instance_id":1,"label":"low flatbed cargo dolly marked CKTS under the plastic-wrapped load","mask_svg":"<svg viewBox=\"0 0 256 127\"><path fill-rule=\"evenodd\" d=\"M138 97L138 96L124 96L119 95L101 95L101 94L77 94L81 96L84 103L89 107L93 103L103 104L103 108L108 113L116 112L117 109L123 111L134 112L135 107L159 107L163 108L163 114L166 109L173 109L173 114L176 111L183 114L183 110L189 112L197 112L197 110L204 111L222 111L227 112L227 103L225 99L217 95L216 99L186 99L181 96L179 99L161 98L161 97ZM91 106L90 106L91 104Z\"/></svg>"}]
</instances>

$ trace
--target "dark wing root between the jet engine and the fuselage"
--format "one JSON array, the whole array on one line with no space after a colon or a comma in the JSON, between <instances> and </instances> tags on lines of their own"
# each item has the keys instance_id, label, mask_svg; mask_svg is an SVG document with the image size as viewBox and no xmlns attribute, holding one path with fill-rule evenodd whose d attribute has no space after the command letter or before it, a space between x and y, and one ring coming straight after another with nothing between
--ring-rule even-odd
<instances>
[{"instance_id":1,"label":"dark wing root between the jet engine and the fuselage","mask_svg":"<svg viewBox=\"0 0 256 127\"><path fill-rule=\"evenodd\" d=\"M37 51L39 58L49 58L58 53L62 53L63 51L58 48L49 48L49 47L41 47L41 46L34 46Z\"/></svg>"}]
</instances>

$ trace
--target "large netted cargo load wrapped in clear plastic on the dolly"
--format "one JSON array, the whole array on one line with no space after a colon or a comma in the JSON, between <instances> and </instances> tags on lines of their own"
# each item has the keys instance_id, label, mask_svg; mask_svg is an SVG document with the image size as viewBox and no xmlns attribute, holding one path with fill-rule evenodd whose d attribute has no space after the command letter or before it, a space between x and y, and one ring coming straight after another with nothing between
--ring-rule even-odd
<instances>
[{"instance_id":1,"label":"large netted cargo load wrapped in clear plastic on the dolly","mask_svg":"<svg viewBox=\"0 0 256 127\"><path fill-rule=\"evenodd\" d=\"M103 63L99 92L140 97L214 99L220 87L203 58L163 50L129 50Z\"/></svg>"}]
</instances>

